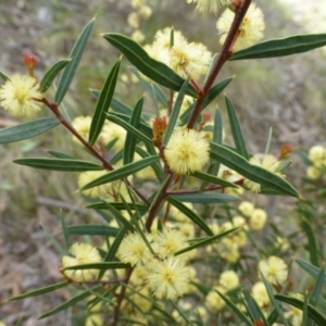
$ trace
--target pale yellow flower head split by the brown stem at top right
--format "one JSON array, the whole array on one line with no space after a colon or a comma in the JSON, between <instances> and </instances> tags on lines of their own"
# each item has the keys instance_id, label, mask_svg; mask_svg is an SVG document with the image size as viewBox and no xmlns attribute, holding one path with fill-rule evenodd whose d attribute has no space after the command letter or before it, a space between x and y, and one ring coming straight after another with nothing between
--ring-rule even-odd
<instances>
[{"instance_id":1,"label":"pale yellow flower head split by the brown stem at top right","mask_svg":"<svg viewBox=\"0 0 326 326\"><path fill-rule=\"evenodd\" d=\"M235 13L227 9L217 21L216 27L221 34L220 41L222 45L226 39L234 17ZM264 30L265 22L263 12L254 3L251 3L240 25L238 38L233 50L241 50L256 43L264 37Z\"/></svg>"}]
</instances>

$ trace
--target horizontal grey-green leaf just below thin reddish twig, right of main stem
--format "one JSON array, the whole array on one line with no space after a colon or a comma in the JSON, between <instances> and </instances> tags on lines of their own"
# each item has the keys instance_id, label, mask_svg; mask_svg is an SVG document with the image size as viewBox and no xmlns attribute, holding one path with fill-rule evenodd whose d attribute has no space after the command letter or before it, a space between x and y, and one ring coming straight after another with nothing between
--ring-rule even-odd
<instances>
[{"instance_id":1,"label":"horizontal grey-green leaf just below thin reddish twig, right of main stem","mask_svg":"<svg viewBox=\"0 0 326 326\"><path fill-rule=\"evenodd\" d=\"M238 197L226 195L226 193L180 193L172 195L173 197L181 202L192 203L218 203L218 202L230 202L239 200Z\"/></svg>"}]
</instances>

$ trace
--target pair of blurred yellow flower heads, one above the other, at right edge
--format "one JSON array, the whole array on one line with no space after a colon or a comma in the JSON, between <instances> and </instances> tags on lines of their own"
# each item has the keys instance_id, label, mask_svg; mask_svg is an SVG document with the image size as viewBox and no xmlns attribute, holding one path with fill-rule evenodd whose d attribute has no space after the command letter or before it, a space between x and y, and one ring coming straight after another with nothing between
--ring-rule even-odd
<instances>
[{"instance_id":1,"label":"pair of blurred yellow flower heads, one above the other, at right edge","mask_svg":"<svg viewBox=\"0 0 326 326\"><path fill-rule=\"evenodd\" d=\"M308 156L312 165L306 167L306 176L312 180L317 180L326 174L326 148L315 145L310 148Z\"/></svg>"}]
</instances>

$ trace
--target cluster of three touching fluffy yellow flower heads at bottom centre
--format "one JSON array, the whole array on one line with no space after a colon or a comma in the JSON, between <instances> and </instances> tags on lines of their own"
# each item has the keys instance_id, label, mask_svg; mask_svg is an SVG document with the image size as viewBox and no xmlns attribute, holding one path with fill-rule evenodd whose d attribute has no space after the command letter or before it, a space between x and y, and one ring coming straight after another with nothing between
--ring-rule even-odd
<instances>
[{"instance_id":1,"label":"cluster of three touching fluffy yellow flower heads at bottom centre","mask_svg":"<svg viewBox=\"0 0 326 326\"><path fill-rule=\"evenodd\" d=\"M186 237L170 228L143 236L146 239L137 233L127 235L117 256L140 269L143 286L148 286L156 298L183 296L188 288L191 269L187 266L187 254L174 254L188 246Z\"/></svg>"}]
</instances>

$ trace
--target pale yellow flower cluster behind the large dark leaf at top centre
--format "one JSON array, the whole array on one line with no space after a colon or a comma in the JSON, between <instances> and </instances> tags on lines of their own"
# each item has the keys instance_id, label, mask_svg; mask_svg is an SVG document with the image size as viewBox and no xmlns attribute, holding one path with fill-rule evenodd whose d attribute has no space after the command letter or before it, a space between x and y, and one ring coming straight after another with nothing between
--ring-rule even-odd
<instances>
[{"instance_id":1,"label":"pale yellow flower cluster behind the large dark leaf at top centre","mask_svg":"<svg viewBox=\"0 0 326 326\"><path fill-rule=\"evenodd\" d=\"M189 43L178 30L174 30L174 42L171 45L171 30L168 27L155 34L153 43L145 46L148 54L168 65L183 78L198 79L205 75L212 53L202 43Z\"/></svg>"}]
</instances>

